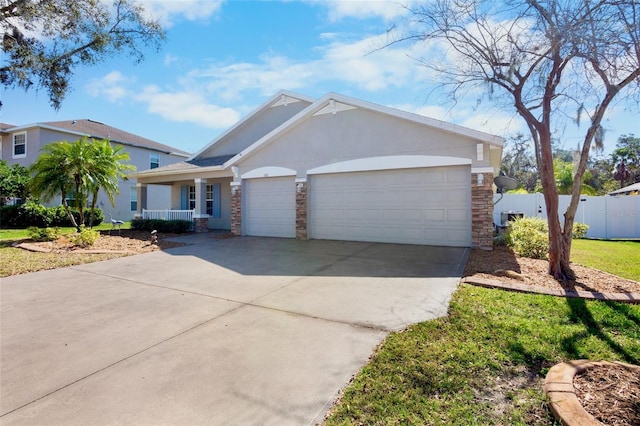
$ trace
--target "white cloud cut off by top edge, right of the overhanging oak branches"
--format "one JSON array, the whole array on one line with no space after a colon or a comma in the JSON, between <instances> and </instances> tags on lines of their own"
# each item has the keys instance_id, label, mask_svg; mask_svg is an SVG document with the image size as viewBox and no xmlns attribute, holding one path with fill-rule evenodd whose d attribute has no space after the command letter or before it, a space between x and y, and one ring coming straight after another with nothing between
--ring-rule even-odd
<instances>
[{"instance_id":1,"label":"white cloud cut off by top edge, right of the overhanging oak branches","mask_svg":"<svg viewBox=\"0 0 640 426\"><path fill-rule=\"evenodd\" d=\"M147 17L157 19L165 27L181 17L188 21L205 20L217 13L224 0L136 0Z\"/></svg>"}]
</instances>

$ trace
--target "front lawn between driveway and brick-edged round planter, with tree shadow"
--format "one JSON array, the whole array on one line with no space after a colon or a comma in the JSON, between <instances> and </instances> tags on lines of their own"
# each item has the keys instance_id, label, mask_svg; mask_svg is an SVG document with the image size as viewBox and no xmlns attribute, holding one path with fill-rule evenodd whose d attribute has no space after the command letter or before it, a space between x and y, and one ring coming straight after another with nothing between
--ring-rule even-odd
<instances>
[{"instance_id":1,"label":"front lawn between driveway and brick-edged round planter, with tree shadow","mask_svg":"<svg viewBox=\"0 0 640 426\"><path fill-rule=\"evenodd\" d=\"M327 425L552 425L558 362L639 363L640 306L462 285L449 316L391 334Z\"/></svg>"}]
</instances>

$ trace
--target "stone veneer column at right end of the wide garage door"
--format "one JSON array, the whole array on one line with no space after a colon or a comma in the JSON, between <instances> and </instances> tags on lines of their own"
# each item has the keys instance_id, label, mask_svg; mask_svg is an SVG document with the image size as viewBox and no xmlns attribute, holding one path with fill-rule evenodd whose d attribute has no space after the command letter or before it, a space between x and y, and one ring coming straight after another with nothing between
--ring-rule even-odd
<instances>
[{"instance_id":1,"label":"stone veneer column at right end of the wide garage door","mask_svg":"<svg viewBox=\"0 0 640 426\"><path fill-rule=\"evenodd\" d=\"M484 180L478 184L478 176ZM493 250L493 173L471 174L471 246Z\"/></svg>"}]
</instances>

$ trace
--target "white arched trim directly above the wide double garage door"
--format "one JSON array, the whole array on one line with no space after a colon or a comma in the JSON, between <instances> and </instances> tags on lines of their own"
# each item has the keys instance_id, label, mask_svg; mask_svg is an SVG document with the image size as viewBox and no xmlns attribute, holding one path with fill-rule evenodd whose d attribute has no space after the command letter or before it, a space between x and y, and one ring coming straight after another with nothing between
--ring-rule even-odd
<instances>
[{"instance_id":1,"label":"white arched trim directly above the wide double garage door","mask_svg":"<svg viewBox=\"0 0 640 426\"><path fill-rule=\"evenodd\" d=\"M327 164L307 170L307 175L470 165L471 160L468 158L431 155L391 155L385 157L359 158L357 160Z\"/></svg>"}]
</instances>

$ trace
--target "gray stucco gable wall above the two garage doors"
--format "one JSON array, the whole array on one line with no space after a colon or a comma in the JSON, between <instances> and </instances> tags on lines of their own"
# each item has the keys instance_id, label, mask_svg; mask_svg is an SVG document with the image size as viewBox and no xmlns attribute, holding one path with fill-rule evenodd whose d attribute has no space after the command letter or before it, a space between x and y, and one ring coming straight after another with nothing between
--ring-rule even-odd
<instances>
[{"instance_id":1,"label":"gray stucco gable wall above the two garage doors","mask_svg":"<svg viewBox=\"0 0 640 426\"><path fill-rule=\"evenodd\" d=\"M472 167L490 167L489 147L477 161L480 141L364 109L311 117L277 141L239 163L241 173L281 166L304 177L325 164L387 155L433 155L469 158Z\"/></svg>"}]
</instances>

